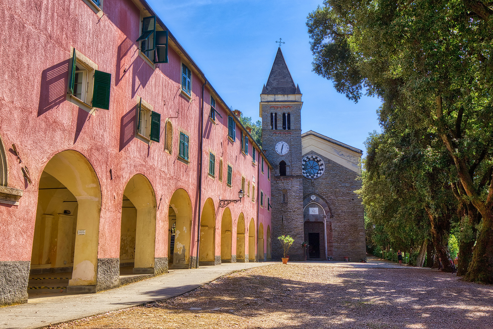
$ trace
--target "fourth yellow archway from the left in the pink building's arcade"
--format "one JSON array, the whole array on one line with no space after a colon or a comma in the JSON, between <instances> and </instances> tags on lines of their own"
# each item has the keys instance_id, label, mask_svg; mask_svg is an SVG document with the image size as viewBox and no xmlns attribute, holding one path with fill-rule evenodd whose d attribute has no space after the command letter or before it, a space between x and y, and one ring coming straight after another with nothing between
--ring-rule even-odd
<instances>
[{"instance_id":1,"label":"fourth yellow archway from the left in the pink building's arcade","mask_svg":"<svg viewBox=\"0 0 493 329\"><path fill-rule=\"evenodd\" d=\"M215 264L215 208L211 198L206 200L200 217L199 265Z\"/></svg>"}]
</instances>

